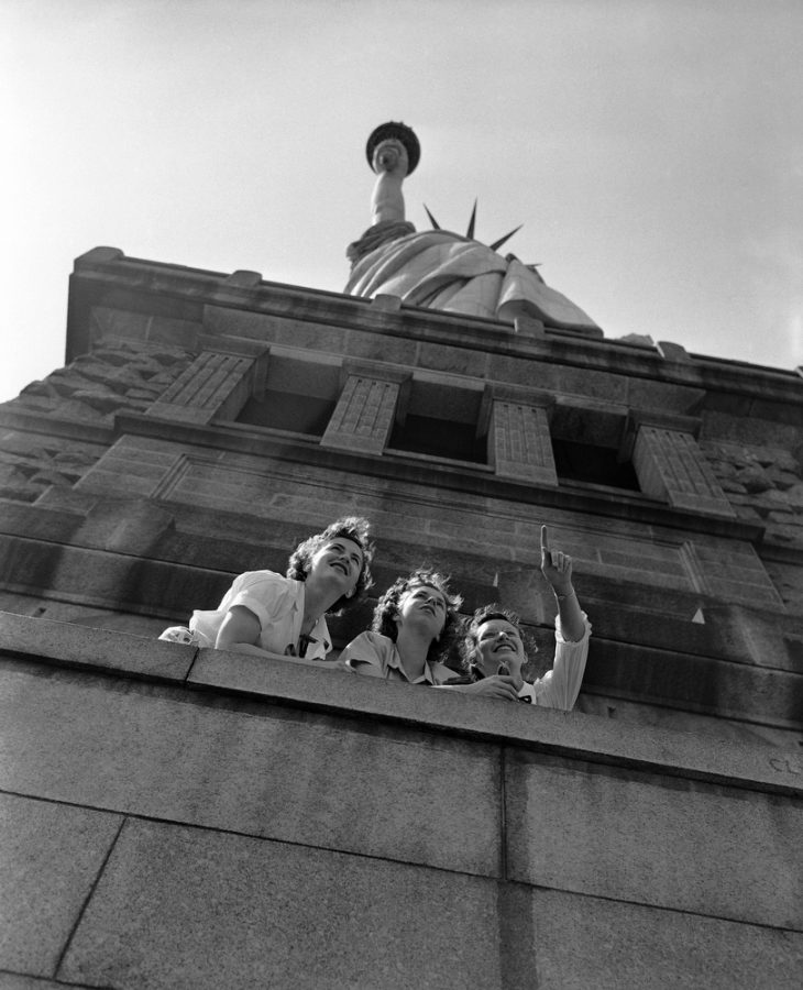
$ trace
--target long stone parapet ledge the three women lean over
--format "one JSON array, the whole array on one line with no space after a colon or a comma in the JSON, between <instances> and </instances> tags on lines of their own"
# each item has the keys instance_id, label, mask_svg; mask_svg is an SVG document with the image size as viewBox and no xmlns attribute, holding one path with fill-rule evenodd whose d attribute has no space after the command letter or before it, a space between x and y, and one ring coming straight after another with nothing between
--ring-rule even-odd
<instances>
[{"instance_id":1,"label":"long stone parapet ledge the three women lean over","mask_svg":"<svg viewBox=\"0 0 803 990\"><path fill-rule=\"evenodd\" d=\"M106 669L114 675L184 681L188 689L264 698L349 717L406 725L590 762L649 770L713 784L803 794L793 751L719 743L593 715L419 691L316 666L244 653L195 650L128 634L0 614L0 653L28 661ZM195 662L193 658L195 657ZM175 658L175 659L174 659Z\"/></svg>"}]
</instances>

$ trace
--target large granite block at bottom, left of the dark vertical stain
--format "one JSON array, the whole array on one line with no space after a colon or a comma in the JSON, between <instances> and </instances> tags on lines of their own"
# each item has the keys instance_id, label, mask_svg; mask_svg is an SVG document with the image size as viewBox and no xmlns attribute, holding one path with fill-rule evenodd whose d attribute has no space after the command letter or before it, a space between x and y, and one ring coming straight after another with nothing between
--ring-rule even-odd
<instances>
[{"instance_id":1,"label":"large granite block at bottom, left of the dark vertical stain","mask_svg":"<svg viewBox=\"0 0 803 990\"><path fill-rule=\"evenodd\" d=\"M496 884L130 822L59 969L92 986L498 987Z\"/></svg>"}]
</instances>

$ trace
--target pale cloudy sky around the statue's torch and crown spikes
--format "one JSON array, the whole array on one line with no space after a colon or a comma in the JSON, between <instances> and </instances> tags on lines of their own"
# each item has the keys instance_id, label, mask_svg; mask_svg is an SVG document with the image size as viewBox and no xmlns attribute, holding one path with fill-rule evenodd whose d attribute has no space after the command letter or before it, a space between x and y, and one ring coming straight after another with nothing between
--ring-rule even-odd
<instances>
[{"instance_id":1,"label":"pale cloudy sky around the statue's torch and crown spikes","mask_svg":"<svg viewBox=\"0 0 803 990\"><path fill-rule=\"evenodd\" d=\"M407 213L541 262L607 337L803 363L803 0L0 0L0 400L100 244L340 292L371 130Z\"/></svg>"}]
</instances>

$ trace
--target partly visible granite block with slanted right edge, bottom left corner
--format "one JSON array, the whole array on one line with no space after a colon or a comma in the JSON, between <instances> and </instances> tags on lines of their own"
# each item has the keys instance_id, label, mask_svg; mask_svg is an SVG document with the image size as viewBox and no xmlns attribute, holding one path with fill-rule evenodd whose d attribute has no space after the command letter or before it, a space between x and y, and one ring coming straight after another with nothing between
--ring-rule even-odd
<instances>
[{"instance_id":1,"label":"partly visible granite block with slanted right edge, bottom left corner","mask_svg":"<svg viewBox=\"0 0 803 990\"><path fill-rule=\"evenodd\" d=\"M0 794L0 969L53 975L120 823Z\"/></svg>"}]
</instances>

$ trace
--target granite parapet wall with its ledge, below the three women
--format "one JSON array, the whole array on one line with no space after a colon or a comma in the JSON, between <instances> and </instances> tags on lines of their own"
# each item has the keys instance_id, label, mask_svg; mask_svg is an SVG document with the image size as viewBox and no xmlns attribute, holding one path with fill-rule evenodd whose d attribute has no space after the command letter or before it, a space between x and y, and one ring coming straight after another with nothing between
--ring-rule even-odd
<instances>
[{"instance_id":1,"label":"granite parapet wall with its ledge, below the three women","mask_svg":"<svg viewBox=\"0 0 803 990\"><path fill-rule=\"evenodd\" d=\"M800 760L0 616L0 986L799 986Z\"/></svg>"}]
</instances>

